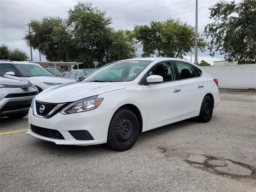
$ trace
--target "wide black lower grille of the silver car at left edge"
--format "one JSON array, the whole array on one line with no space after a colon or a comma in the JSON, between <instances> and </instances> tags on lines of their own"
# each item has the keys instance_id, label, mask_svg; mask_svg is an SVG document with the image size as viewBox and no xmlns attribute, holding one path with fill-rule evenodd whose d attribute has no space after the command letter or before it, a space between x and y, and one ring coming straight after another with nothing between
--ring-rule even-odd
<instances>
[{"instance_id":1,"label":"wide black lower grille of the silver car at left edge","mask_svg":"<svg viewBox=\"0 0 256 192\"><path fill-rule=\"evenodd\" d=\"M32 99L29 100L23 100L23 101L12 101L6 103L0 113L5 112L5 111L12 111L12 110L18 110L18 109L25 109L25 108L30 108L31 106Z\"/></svg>"}]
</instances>

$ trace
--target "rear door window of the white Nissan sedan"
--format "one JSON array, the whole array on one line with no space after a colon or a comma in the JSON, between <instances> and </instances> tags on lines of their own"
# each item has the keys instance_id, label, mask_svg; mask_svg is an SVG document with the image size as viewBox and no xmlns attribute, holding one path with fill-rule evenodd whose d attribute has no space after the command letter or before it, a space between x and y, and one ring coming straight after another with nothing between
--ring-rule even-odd
<instances>
[{"instance_id":1,"label":"rear door window of the white Nissan sedan","mask_svg":"<svg viewBox=\"0 0 256 192\"><path fill-rule=\"evenodd\" d=\"M192 65L183 62L176 62L180 79L188 79L196 77L196 73Z\"/></svg>"}]
</instances>

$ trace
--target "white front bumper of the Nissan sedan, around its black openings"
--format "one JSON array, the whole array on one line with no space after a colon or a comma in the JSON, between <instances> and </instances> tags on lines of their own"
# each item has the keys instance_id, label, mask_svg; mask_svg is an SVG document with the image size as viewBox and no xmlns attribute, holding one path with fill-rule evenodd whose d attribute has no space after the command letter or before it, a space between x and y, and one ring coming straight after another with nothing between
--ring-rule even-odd
<instances>
[{"instance_id":1,"label":"white front bumper of the Nissan sedan, around its black openings","mask_svg":"<svg viewBox=\"0 0 256 192\"><path fill-rule=\"evenodd\" d=\"M94 145L107 142L108 126L113 109L100 110L98 108L76 114L63 115L57 113L51 118L40 118L33 115L32 109L28 112L28 132L37 138L54 142L59 145ZM55 139L36 134L31 125L50 130L57 130L64 139ZM87 130L94 140L76 140L69 131Z\"/></svg>"}]
</instances>

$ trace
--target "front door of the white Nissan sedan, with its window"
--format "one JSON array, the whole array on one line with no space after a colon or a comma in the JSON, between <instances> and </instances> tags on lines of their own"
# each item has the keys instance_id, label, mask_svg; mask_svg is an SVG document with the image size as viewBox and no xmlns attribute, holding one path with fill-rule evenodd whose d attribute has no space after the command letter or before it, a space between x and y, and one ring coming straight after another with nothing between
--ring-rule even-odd
<instances>
[{"instance_id":1,"label":"front door of the white Nissan sedan, with its window","mask_svg":"<svg viewBox=\"0 0 256 192\"><path fill-rule=\"evenodd\" d=\"M142 85L146 101L146 126L150 127L180 118L182 116L182 92L173 63L156 64L143 80L150 75L160 75L164 82Z\"/></svg>"}]
</instances>

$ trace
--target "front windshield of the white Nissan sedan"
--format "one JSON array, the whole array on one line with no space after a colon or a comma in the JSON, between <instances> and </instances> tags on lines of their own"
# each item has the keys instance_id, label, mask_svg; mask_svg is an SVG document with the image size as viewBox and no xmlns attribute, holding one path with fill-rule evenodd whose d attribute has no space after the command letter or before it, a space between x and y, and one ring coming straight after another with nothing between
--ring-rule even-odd
<instances>
[{"instance_id":1,"label":"front windshield of the white Nissan sedan","mask_svg":"<svg viewBox=\"0 0 256 192\"><path fill-rule=\"evenodd\" d=\"M152 61L120 61L88 75L85 82L125 82L134 80Z\"/></svg>"}]
</instances>

